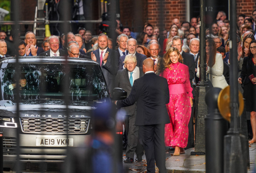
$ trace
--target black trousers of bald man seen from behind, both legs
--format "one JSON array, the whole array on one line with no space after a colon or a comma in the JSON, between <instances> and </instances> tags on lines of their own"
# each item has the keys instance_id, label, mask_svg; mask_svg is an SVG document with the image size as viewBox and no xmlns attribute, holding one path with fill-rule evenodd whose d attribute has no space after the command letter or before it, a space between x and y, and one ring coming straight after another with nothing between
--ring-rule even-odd
<instances>
[{"instance_id":1,"label":"black trousers of bald man seen from behind, both legs","mask_svg":"<svg viewBox=\"0 0 256 173\"><path fill-rule=\"evenodd\" d=\"M155 173L155 161L159 173L166 173L164 124L140 125L139 133L145 149L147 173Z\"/></svg>"}]
</instances>

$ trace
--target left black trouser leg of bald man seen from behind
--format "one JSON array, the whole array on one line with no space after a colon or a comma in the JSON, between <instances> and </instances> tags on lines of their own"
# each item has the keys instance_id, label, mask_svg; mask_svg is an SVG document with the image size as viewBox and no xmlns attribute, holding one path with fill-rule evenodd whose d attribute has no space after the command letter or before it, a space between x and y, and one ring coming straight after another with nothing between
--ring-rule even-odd
<instances>
[{"instance_id":1,"label":"left black trouser leg of bald man seen from behind","mask_svg":"<svg viewBox=\"0 0 256 173\"><path fill-rule=\"evenodd\" d=\"M155 173L155 151L154 151L154 125L140 125L139 133L142 138L145 155L147 159L147 173Z\"/></svg>"}]
</instances>

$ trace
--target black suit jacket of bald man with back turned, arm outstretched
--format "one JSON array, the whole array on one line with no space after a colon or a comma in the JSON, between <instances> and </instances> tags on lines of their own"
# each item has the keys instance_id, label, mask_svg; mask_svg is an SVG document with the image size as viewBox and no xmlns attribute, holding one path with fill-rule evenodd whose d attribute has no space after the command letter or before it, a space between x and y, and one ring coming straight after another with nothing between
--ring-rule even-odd
<instances>
[{"instance_id":1,"label":"black suit jacket of bald man with back turned, arm outstretched","mask_svg":"<svg viewBox=\"0 0 256 173\"><path fill-rule=\"evenodd\" d=\"M167 80L151 72L136 79L129 97L116 105L120 108L137 102L135 125L167 124L170 118L165 104L169 103L169 95Z\"/></svg>"}]
</instances>

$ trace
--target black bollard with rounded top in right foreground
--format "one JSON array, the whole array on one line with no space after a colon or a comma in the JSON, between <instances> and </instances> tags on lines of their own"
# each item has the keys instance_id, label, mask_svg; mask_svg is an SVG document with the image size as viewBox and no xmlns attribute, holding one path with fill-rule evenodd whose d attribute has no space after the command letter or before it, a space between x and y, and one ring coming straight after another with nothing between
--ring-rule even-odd
<instances>
[{"instance_id":1,"label":"black bollard with rounded top in right foreground","mask_svg":"<svg viewBox=\"0 0 256 173\"><path fill-rule=\"evenodd\" d=\"M228 131L228 121L226 121L218 109L218 96L220 88L211 88L205 95L205 102L209 109L209 114L205 117L205 161L206 172L223 172L223 144L224 135Z\"/></svg>"}]
</instances>

